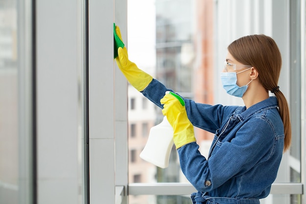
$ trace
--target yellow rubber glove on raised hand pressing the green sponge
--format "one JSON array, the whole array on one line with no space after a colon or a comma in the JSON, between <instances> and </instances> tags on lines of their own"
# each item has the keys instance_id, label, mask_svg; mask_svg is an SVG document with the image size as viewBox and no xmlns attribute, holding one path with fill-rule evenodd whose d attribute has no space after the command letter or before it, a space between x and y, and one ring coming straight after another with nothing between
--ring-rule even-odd
<instances>
[{"instance_id":1,"label":"yellow rubber glove on raised hand pressing the green sponge","mask_svg":"<svg viewBox=\"0 0 306 204\"><path fill-rule=\"evenodd\" d=\"M122 41L120 28L117 25L115 30ZM150 74L139 69L135 63L129 60L128 51L125 46L118 48L118 57L115 59L124 76L137 91L143 91L153 80Z\"/></svg>"}]
</instances>

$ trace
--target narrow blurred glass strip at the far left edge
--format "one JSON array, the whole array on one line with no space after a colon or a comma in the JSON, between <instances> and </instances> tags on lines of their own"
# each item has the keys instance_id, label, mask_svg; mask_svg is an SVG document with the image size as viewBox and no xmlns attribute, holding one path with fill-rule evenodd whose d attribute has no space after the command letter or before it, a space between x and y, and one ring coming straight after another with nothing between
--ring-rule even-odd
<instances>
[{"instance_id":1,"label":"narrow blurred glass strip at the far left edge","mask_svg":"<svg viewBox=\"0 0 306 204\"><path fill-rule=\"evenodd\" d=\"M16 2L0 2L0 203L18 203ZM11 198L15 198L13 201Z\"/></svg>"}]
</instances>

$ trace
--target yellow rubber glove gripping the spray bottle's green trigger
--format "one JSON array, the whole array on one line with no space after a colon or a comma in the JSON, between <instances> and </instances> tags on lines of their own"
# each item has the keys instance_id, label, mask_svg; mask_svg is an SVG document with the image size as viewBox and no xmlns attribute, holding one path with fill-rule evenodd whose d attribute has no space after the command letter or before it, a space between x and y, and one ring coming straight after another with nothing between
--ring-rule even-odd
<instances>
[{"instance_id":1,"label":"yellow rubber glove gripping the spray bottle's green trigger","mask_svg":"<svg viewBox=\"0 0 306 204\"><path fill-rule=\"evenodd\" d=\"M179 95L167 91L165 96L160 99L160 103L164 104L162 113L167 116L173 127L173 141L176 149L196 141L194 126L188 119L184 100Z\"/></svg>"}]
</instances>

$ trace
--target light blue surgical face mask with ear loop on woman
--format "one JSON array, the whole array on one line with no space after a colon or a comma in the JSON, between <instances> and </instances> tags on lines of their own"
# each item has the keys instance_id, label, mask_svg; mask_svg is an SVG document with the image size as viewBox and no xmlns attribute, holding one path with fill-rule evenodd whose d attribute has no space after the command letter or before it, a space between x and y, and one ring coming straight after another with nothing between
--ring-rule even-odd
<instances>
[{"instance_id":1,"label":"light blue surgical face mask with ear loop on woman","mask_svg":"<svg viewBox=\"0 0 306 204\"><path fill-rule=\"evenodd\" d=\"M250 69L250 68L248 68ZM245 69L243 71L246 71L248 69ZM226 90L226 92L230 95L242 97L244 92L246 91L249 83L251 83L253 80L251 80L246 85L239 87L237 85L237 74L243 72L221 72L221 82L223 85L223 88Z\"/></svg>"}]
</instances>

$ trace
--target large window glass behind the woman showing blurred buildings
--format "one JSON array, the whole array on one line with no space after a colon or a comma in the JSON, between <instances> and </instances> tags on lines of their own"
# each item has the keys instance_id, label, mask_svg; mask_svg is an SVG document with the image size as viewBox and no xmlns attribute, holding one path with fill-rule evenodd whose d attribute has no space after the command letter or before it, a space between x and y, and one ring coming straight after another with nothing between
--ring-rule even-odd
<instances>
[{"instance_id":1,"label":"large window glass behind the woman showing blurred buildings","mask_svg":"<svg viewBox=\"0 0 306 204\"><path fill-rule=\"evenodd\" d=\"M140 0L129 0L127 44L129 58L139 68L185 98L207 104L243 105L240 98L226 94L219 79L227 52L226 47L245 35L264 33L272 36L274 28L269 23L277 20L273 13L278 13L277 9L282 10L286 7L282 7L284 4L271 7L271 1L219 0L211 1L213 2L211 4L207 2L210 1L204 3L196 0L152 0L144 4ZM290 8L298 10L299 7L291 5ZM291 10L290 18L294 22L300 18L300 13L295 12L297 10ZM290 47L290 50L295 49L291 57L286 56L286 49L289 47L277 42L282 49L283 62L290 61L290 66L294 64L294 68L297 68L292 75L290 71L290 82L287 82L285 77L279 81L282 86L290 86L290 98L287 98L290 104L299 104L301 100L298 96L300 82L295 80L295 77L300 75L298 70L300 65L296 63L299 59L293 58L294 56L299 58L301 54L297 46L300 28L298 28L299 23L295 25L297 27L290 28L294 30L291 40L291 45L294 47ZM283 69L287 71L286 67ZM142 124L148 124L150 129L162 121L163 115L150 101L147 109L144 109L140 105L144 96L133 88L129 88L129 97L131 103L129 106L133 107L132 110L129 109L129 148L133 150L130 151L130 154L133 154L133 162L129 164L129 182L134 182L135 176L139 175L142 175L140 182L187 182L180 170L174 147L169 167L165 169L139 158L148 139L143 137ZM292 135L294 138L291 155L289 152L284 154L276 182L301 181L300 105L290 107L290 111L295 125L292 127L295 130ZM201 154L207 156L213 135L197 128L195 135ZM138 159L134 158L135 155ZM277 200L278 197L280 195L273 195L270 199ZM293 202L298 200L298 197L291 196L290 200L290 196L287 196L286 201Z\"/></svg>"}]
</instances>

